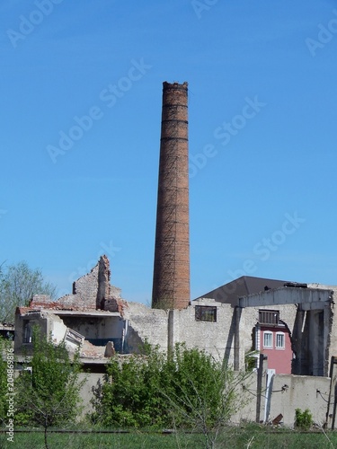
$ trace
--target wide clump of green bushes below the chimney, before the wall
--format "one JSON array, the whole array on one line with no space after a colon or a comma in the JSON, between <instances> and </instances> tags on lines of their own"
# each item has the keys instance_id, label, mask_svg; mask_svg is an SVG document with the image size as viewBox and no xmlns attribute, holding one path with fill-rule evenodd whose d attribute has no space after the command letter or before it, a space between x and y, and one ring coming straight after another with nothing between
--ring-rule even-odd
<instances>
[{"instance_id":1,"label":"wide clump of green bushes below the chimney, before the wall","mask_svg":"<svg viewBox=\"0 0 337 449\"><path fill-rule=\"evenodd\" d=\"M94 421L118 427L189 427L207 447L242 406L235 374L199 349L176 345L164 356L146 346L143 355L112 357L104 383L93 389Z\"/></svg>"}]
</instances>

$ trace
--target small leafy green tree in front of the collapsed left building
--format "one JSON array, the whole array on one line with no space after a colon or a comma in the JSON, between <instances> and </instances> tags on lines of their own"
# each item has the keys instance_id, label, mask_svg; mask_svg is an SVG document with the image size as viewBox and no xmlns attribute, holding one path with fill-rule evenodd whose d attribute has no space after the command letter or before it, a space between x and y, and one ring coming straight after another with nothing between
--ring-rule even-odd
<instances>
[{"instance_id":1,"label":"small leafy green tree in front of the collapsed left building","mask_svg":"<svg viewBox=\"0 0 337 449\"><path fill-rule=\"evenodd\" d=\"M79 354L69 356L64 342L54 345L35 326L32 335L32 356L26 359L26 370L19 375L16 386L15 422L44 428L45 445L51 426L75 422L80 406Z\"/></svg>"}]
</instances>

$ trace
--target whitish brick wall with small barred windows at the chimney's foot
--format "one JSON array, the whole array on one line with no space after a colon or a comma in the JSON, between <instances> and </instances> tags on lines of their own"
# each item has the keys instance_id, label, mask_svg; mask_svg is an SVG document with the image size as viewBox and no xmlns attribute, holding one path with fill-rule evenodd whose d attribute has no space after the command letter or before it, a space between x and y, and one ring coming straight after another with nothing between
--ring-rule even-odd
<instances>
[{"instance_id":1,"label":"whitish brick wall with small barred windows at the chimney's foot","mask_svg":"<svg viewBox=\"0 0 337 449\"><path fill-rule=\"evenodd\" d=\"M217 321L197 321L195 307L199 305L217 307ZM278 310L279 319L288 325L291 333L297 317L296 304L267 305L263 308ZM217 359L226 359L235 370L243 370L245 354L253 348L253 329L259 321L259 309L233 308L230 304L217 303L208 298L193 301L186 309L171 311L128 303L124 308L124 319L129 321L129 351L135 351L145 339L163 350L177 342L184 342L188 348L204 349Z\"/></svg>"}]
</instances>

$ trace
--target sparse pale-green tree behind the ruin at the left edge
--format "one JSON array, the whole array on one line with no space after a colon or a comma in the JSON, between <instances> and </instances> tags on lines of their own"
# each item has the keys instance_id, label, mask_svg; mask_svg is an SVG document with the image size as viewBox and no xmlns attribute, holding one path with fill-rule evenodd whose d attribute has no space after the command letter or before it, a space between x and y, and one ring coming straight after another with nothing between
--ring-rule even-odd
<instances>
[{"instance_id":1,"label":"sparse pale-green tree behind the ruin at the left edge","mask_svg":"<svg viewBox=\"0 0 337 449\"><path fill-rule=\"evenodd\" d=\"M4 264L3 264L4 265ZM0 321L13 322L15 308L28 305L33 295L56 297L56 286L43 279L40 269L22 261L0 269Z\"/></svg>"}]
</instances>

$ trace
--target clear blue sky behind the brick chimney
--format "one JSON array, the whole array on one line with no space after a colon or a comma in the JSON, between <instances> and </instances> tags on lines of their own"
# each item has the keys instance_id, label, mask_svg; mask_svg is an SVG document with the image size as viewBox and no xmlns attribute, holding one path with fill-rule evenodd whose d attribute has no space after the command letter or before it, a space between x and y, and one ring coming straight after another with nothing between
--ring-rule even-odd
<instances>
[{"instance_id":1,"label":"clear blue sky behind the brick chimney","mask_svg":"<svg viewBox=\"0 0 337 449\"><path fill-rule=\"evenodd\" d=\"M0 23L0 261L64 294L106 253L149 304L162 84L187 81L191 298L337 284L337 2L8 0Z\"/></svg>"}]
</instances>

